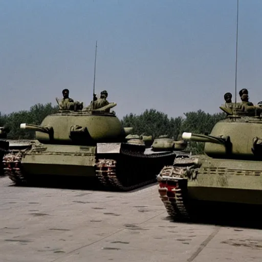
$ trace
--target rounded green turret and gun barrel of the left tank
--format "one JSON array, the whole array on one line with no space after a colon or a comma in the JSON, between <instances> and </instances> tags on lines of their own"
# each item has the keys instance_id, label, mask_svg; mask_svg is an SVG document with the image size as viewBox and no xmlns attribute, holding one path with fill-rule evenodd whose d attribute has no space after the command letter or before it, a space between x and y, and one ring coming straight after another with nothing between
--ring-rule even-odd
<instances>
[{"instance_id":1,"label":"rounded green turret and gun barrel of the left tank","mask_svg":"<svg viewBox=\"0 0 262 262\"><path fill-rule=\"evenodd\" d=\"M41 125L22 123L20 128L34 130L41 143L69 145L120 142L132 132L132 128L122 127L115 114L97 110L60 110L43 119Z\"/></svg>"}]
</instances>

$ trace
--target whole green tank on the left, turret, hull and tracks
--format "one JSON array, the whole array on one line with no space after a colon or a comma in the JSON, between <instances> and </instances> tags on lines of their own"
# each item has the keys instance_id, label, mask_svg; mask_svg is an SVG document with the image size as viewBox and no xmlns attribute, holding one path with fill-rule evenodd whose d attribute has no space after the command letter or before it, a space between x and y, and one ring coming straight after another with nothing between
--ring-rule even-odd
<instances>
[{"instance_id":1,"label":"whole green tank on the left, turret, hull and tracks","mask_svg":"<svg viewBox=\"0 0 262 262\"><path fill-rule=\"evenodd\" d=\"M132 190L157 182L163 165L171 165L176 151L155 152L142 143L126 139L132 127L123 127L110 103L59 110L40 125L21 123L35 131L36 141L25 149L5 155L5 172L16 185L29 185L40 178L63 181L63 177L96 178L107 189ZM130 137L129 137L130 138ZM52 178L50 178L52 177Z\"/></svg>"}]
</instances>

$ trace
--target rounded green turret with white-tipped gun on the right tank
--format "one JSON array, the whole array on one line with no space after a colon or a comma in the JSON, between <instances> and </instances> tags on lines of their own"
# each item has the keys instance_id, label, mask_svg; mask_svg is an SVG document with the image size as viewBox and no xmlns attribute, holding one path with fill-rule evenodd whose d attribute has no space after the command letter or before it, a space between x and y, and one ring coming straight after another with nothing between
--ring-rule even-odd
<instances>
[{"instance_id":1,"label":"rounded green turret with white-tipped gun on the right tank","mask_svg":"<svg viewBox=\"0 0 262 262\"><path fill-rule=\"evenodd\" d=\"M225 120L217 122L209 135L183 133L183 139L205 142L204 152L212 158L257 159L262 137L262 118L260 113L259 116L257 113L262 108L257 106L242 108L245 110L241 110L241 114L234 111L234 115L228 115ZM246 108L250 111L246 111Z\"/></svg>"}]
</instances>

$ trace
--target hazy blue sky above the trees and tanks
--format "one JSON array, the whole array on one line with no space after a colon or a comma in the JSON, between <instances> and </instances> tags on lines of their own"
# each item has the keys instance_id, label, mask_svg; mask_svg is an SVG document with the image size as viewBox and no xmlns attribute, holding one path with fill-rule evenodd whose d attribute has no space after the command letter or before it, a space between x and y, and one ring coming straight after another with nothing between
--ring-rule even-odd
<instances>
[{"instance_id":1,"label":"hazy blue sky above the trees and tanks","mask_svg":"<svg viewBox=\"0 0 262 262\"><path fill-rule=\"evenodd\" d=\"M0 0L0 112L96 93L119 117L219 112L234 92L236 0ZM237 91L262 100L262 1L239 0ZM237 99L239 96L237 95Z\"/></svg>"}]
</instances>

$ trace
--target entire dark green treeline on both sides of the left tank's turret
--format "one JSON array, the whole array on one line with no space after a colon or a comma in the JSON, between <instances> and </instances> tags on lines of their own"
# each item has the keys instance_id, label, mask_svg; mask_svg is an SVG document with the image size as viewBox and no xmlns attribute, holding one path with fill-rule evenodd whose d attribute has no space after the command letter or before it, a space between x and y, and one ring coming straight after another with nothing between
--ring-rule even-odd
<instances>
[{"instance_id":1,"label":"entire dark green treeline on both sides of the left tank's turret","mask_svg":"<svg viewBox=\"0 0 262 262\"><path fill-rule=\"evenodd\" d=\"M8 139L34 139L34 132L20 129L20 123L39 125L46 116L57 111L58 106L47 103L35 104L29 111L23 110L4 115L0 113L0 126L10 128ZM184 115L183 118L169 118L167 114L150 109L140 115L130 113L121 121L125 127L134 127L134 134L152 135L154 138L168 135L174 140L179 140L183 132L210 133L214 124L225 118L224 113L211 115L201 110ZM200 153L203 150L203 143L190 142L187 150L192 154Z\"/></svg>"}]
</instances>

